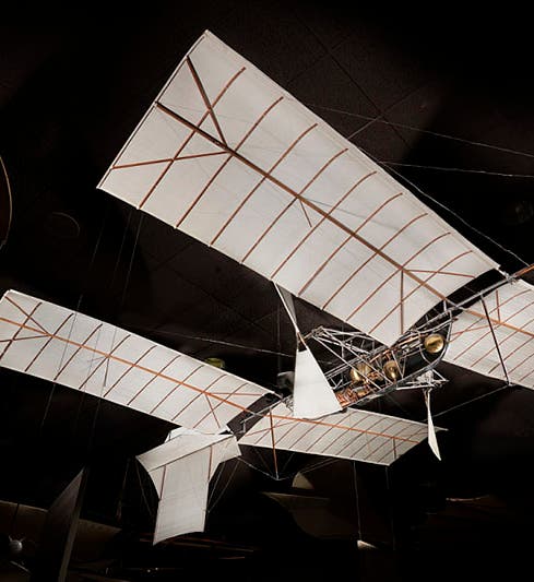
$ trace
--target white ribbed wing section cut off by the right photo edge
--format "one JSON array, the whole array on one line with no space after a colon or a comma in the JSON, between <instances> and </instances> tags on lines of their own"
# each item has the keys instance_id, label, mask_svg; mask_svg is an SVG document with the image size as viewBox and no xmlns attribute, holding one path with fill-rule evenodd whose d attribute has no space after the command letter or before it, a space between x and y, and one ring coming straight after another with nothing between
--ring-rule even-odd
<instances>
[{"instance_id":1,"label":"white ribbed wing section cut off by the right photo edge","mask_svg":"<svg viewBox=\"0 0 534 582\"><path fill-rule=\"evenodd\" d=\"M534 388L534 287L507 283L452 323L443 359L479 373Z\"/></svg>"}]
</instances>

